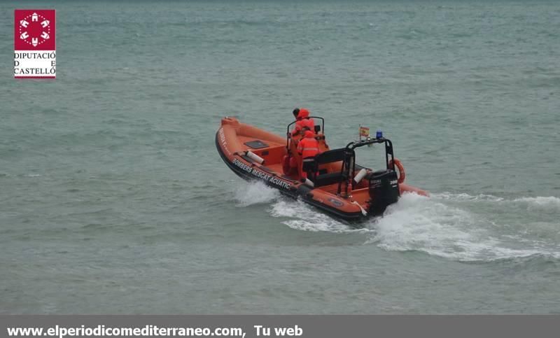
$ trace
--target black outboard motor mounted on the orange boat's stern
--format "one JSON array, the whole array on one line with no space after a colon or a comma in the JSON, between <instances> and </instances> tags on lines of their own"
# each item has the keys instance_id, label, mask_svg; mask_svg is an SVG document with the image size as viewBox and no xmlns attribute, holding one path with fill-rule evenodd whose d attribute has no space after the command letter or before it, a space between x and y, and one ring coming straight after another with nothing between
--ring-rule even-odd
<instances>
[{"instance_id":1,"label":"black outboard motor mounted on the orange boat's stern","mask_svg":"<svg viewBox=\"0 0 560 338\"><path fill-rule=\"evenodd\" d=\"M394 170L379 170L367 175L370 181L370 213L382 215L389 204L398 201L398 177Z\"/></svg>"}]
</instances>

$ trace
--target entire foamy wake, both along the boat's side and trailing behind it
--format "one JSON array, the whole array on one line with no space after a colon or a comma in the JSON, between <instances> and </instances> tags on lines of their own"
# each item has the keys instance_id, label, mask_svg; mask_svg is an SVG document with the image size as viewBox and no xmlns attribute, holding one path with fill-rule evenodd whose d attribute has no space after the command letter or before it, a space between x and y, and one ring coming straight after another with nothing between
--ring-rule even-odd
<instances>
[{"instance_id":1,"label":"entire foamy wake, both along the boat's side and trailing behind it","mask_svg":"<svg viewBox=\"0 0 560 338\"><path fill-rule=\"evenodd\" d=\"M365 245L387 251L419 251L461 261L494 261L531 256L560 259L560 198L443 192L403 195L384 217L354 229L304 204L281 197L262 183L245 183L239 206L269 204L269 213L296 230L363 233ZM250 196L250 197L248 197Z\"/></svg>"}]
</instances>

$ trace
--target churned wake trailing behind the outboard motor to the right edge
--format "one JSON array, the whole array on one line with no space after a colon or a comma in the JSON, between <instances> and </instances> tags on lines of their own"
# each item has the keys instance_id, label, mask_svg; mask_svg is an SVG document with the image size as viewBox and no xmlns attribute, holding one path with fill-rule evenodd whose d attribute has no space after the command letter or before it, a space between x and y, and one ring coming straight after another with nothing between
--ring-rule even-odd
<instances>
[{"instance_id":1,"label":"churned wake trailing behind the outboard motor to the right edge","mask_svg":"<svg viewBox=\"0 0 560 338\"><path fill-rule=\"evenodd\" d=\"M548 240L543 240L538 234L535 236L534 231L528 231L528 227L552 230L549 224L519 223L519 218L500 223L499 214L502 211L509 212L507 209L513 206L519 213L519 205L524 205L526 210L523 212L526 213L542 208L543 199L554 201L556 197L506 200L491 195L445 193L431 198L404 195L397 204L388 208L383 218L369 225L376 232L367 243L390 251L423 251L462 261L492 261L533 255L560 258L560 238L556 229L550 233L555 232L556 238L552 236ZM461 202L477 203L462 206ZM547 211L554 211L557 205L552 203L544 207ZM491 211L493 217L483 212L485 208ZM533 216L538 218L538 213ZM528 215L523 218L528 218Z\"/></svg>"}]
</instances>

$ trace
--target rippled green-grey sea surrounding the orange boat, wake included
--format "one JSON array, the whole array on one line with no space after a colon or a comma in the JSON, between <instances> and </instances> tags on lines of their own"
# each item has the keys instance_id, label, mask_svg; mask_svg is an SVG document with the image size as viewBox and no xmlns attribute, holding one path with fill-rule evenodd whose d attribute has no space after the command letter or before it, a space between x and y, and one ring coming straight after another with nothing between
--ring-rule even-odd
<instances>
[{"instance_id":1,"label":"rippled green-grey sea surrounding the orange boat, wake included","mask_svg":"<svg viewBox=\"0 0 560 338\"><path fill-rule=\"evenodd\" d=\"M56 80L12 78L15 8ZM0 313L558 313L559 46L558 1L3 2ZM222 116L296 106L432 197L354 230L225 167Z\"/></svg>"}]
</instances>

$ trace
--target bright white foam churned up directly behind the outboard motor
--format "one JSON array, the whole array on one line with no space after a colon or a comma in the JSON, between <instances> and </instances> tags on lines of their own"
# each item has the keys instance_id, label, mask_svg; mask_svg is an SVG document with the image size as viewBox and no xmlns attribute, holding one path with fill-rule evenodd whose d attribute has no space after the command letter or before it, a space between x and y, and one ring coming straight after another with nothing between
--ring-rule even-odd
<instances>
[{"instance_id":1,"label":"bright white foam churned up directly behind the outboard motor","mask_svg":"<svg viewBox=\"0 0 560 338\"><path fill-rule=\"evenodd\" d=\"M499 202L489 195L477 199ZM458 195L458 199L470 199ZM403 195L388 207L383 218L370 227L377 230L367 243L389 251L423 251L430 255L456 260L497 260L531 255L560 253L533 245L510 248L491 232L493 223L475 213L418 195ZM528 246L528 247L527 247Z\"/></svg>"}]
</instances>

